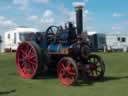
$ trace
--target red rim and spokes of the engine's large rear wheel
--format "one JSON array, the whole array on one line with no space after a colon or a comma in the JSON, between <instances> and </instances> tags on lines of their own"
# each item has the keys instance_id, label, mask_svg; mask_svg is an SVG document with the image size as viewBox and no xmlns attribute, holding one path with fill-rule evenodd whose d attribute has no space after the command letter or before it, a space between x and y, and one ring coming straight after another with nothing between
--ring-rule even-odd
<instances>
[{"instance_id":1,"label":"red rim and spokes of the engine's large rear wheel","mask_svg":"<svg viewBox=\"0 0 128 96\"><path fill-rule=\"evenodd\" d=\"M31 79L35 76L38 59L35 48L30 43L22 43L16 53L18 72L24 78Z\"/></svg>"}]
</instances>

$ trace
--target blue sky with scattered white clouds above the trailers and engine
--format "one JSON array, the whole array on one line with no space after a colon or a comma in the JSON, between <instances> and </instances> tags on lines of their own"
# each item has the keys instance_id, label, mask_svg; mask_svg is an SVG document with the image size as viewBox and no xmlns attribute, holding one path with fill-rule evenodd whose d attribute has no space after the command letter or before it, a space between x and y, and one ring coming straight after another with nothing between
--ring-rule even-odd
<instances>
[{"instance_id":1,"label":"blue sky with scattered white clouds above the trailers and engine","mask_svg":"<svg viewBox=\"0 0 128 96\"><path fill-rule=\"evenodd\" d=\"M0 0L0 34L17 26L45 31L75 23L74 2L84 4L84 30L127 32L128 0Z\"/></svg>"}]
</instances>

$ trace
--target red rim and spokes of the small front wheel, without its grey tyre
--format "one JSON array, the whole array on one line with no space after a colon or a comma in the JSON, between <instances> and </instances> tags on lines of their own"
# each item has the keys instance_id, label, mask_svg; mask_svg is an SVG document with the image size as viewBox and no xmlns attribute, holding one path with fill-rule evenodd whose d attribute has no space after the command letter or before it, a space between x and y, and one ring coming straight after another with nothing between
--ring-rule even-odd
<instances>
[{"instance_id":1,"label":"red rim and spokes of the small front wheel, without its grey tyre","mask_svg":"<svg viewBox=\"0 0 128 96\"><path fill-rule=\"evenodd\" d=\"M75 83L76 71L70 61L62 60L58 64L58 77L64 85L73 85Z\"/></svg>"}]
</instances>

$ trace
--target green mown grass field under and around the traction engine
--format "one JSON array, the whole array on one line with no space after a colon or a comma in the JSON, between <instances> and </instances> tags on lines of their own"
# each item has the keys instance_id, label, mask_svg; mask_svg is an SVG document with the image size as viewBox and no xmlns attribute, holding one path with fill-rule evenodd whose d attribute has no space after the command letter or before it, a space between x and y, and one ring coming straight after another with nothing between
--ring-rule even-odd
<instances>
[{"instance_id":1,"label":"green mown grass field under and around the traction engine","mask_svg":"<svg viewBox=\"0 0 128 96\"><path fill-rule=\"evenodd\" d=\"M26 80L15 66L15 54L0 54L0 96L128 96L128 53L98 53L106 64L105 79L63 86L57 78Z\"/></svg>"}]
</instances>

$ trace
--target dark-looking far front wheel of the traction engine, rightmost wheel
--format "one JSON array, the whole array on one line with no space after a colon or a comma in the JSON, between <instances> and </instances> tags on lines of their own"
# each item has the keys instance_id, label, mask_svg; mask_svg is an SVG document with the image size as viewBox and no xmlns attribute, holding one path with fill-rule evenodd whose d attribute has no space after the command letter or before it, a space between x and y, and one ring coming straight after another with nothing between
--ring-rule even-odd
<instances>
[{"instance_id":1,"label":"dark-looking far front wheel of the traction engine, rightmost wheel","mask_svg":"<svg viewBox=\"0 0 128 96\"><path fill-rule=\"evenodd\" d=\"M104 64L101 58L97 56L90 56L88 58L88 64L85 65L84 74L88 79L98 79L104 73Z\"/></svg>"}]
</instances>

